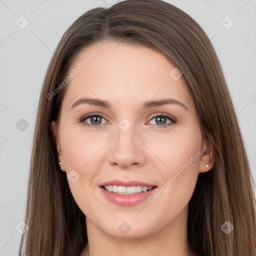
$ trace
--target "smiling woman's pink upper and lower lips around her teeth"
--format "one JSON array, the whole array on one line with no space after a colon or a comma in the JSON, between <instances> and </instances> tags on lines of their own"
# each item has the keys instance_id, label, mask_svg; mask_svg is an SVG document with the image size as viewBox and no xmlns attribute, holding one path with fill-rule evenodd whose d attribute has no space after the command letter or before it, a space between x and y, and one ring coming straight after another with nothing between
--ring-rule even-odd
<instances>
[{"instance_id":1,"label":"smiling woman's pink upper and lower lips around her teeth","mask_svg":"<svg viewBox=\"0 0 256 256\"><path fill-rule=\"evenodd\" d=\"M145 192L140 192L140 193L135 193L135 194L117 194L114 192L109 192L107 190L105 190L103 188L103 186L106 185L122 185L122 186L152 186L153 188L151 190L147 190ZM148 184L148 183L144 183L144 182L140 182L140 181L136 181L136 180L130 180L130 181L123 181L123 180L112 180L112 181L108 181L108 182L104 182L102 184L99 185L99 189L101 190L101 192L103 193L103 195L105 196L105 198L107 200L109 200L110 202L113 202L117 205L120 206L132 206L135 204L138 204L142 201L144 201L145 199L147 199L151 194L153 194L155 192L155 190L157 189L157 186L152 185L152 184Z\"/></svg>"}]
</instances>

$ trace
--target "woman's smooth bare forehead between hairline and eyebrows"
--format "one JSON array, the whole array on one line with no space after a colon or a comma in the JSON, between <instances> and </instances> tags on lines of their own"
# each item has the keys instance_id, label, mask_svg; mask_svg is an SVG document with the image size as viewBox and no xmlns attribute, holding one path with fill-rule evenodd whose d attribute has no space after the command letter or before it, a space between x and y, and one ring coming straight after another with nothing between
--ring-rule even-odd
<instances>
[{"instance_id":1,"label":"woman's smooth bare forehead between hairline and eyebrows","mask_svg":"<svg viewBox=\"0 0 256 256\"><path fill-rule=\"evenodd\" d=\"M171 76L173 68L163 54L145 46L95 43L72 61L69 73L74 75L64 101L71 105L82 96L122 104L167 96L191 101L183 76L177 80Z\"/></svg>"}]
</instances>

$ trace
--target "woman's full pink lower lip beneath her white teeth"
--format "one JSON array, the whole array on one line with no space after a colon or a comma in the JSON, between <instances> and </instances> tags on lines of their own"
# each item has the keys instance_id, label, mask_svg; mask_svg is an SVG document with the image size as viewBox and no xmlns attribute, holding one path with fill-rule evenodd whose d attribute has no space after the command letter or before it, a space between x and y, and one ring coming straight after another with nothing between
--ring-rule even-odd
<instances>
[{"instance_id":1,"label":"woman's full pink lower lip beneath her white teeth","mask_svg":"<svg viewBox=\"0 0 256 256\"><path fill-rule=\"evenodd\" d=\"M153 187L151 190L135 194L117 194L114 192L109 192L101 186L99 188L109 201L122 206L131 206L148 198L152 193L154 193L157 186Z\"/></svg>"}]
</instances>

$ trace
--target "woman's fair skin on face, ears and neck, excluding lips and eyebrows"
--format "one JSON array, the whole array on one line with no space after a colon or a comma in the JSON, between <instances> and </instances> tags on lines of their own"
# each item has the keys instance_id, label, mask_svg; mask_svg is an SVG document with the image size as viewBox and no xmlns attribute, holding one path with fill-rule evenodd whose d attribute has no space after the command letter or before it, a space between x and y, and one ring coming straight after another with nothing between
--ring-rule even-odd
<instances>
[{"instance_id":1,"label":"woman's fair skin on face, ears and neck, excluding lips and eyebrows","mask_svg":"<svg viewBox=\"0 0 256 256\"><path fill-rule=\"evenodd\" d=\"M74 183L67 179L86 216L88 244L80 256L189 255L188 201L199 172L211 169L215 155L212 143L202 139L185 79L174 80L169 75L175 66L159 52L109 41L83 49L70 70L95 48L99 52L66 85L59 125L51 122L61 169L66 174L75 169L80 175ZM81 97L108 100L111 107L84 103L71 108ZM141 108L145 101L165 98L175 99L187 109L174 103ZM90 113L104 116L100 127L83 124L95 124L91 118L78 122ZM162 124L152 118L161 113L174 116L176 123L166 126L171 122L168 118ZM131 123L125 132L118 126L123 118ZM132 206L116 205L98 186L122 179L161 188L196 151L200 156L153 202L146 199ZM131 227L125 234L118 228L123 221Z\"/></svg>"}]
</instances>

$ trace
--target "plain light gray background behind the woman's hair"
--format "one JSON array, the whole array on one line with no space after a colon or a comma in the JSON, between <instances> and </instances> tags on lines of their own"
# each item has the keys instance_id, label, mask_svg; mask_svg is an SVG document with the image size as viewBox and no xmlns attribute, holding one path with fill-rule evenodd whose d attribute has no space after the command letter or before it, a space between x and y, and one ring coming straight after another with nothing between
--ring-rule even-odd
<instances>
[{"instance_id":1,"label":"plain light gray background behind the woman's hair","mask_svg":"<svg viewBox=\"0 0 256 256\"><path fill-rule=\"evenodd\" d=\"M205 30L220 59L256 178L256 1L168 0ZM60 37L82 13L111 0L0 0L0 256L17 255L39 92ZM20 29L21 16L29 24ZM226 16L234 24L226 29ZM223 22L230 24L230 20ZM23 131L16 123L25 119Z\"/></svg>"}]
</instances>

